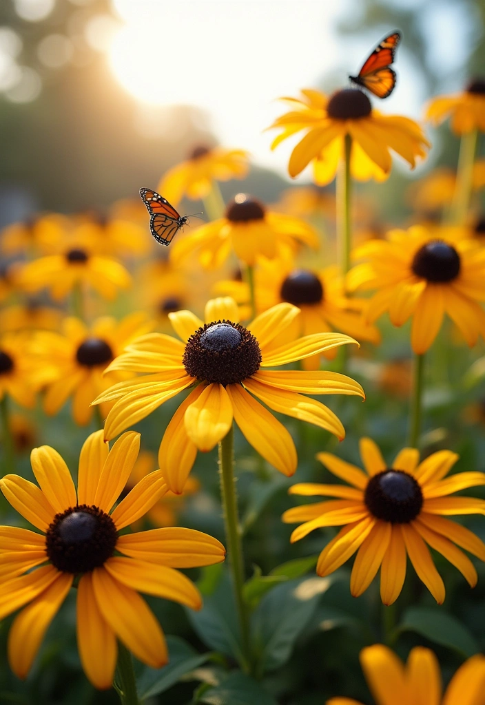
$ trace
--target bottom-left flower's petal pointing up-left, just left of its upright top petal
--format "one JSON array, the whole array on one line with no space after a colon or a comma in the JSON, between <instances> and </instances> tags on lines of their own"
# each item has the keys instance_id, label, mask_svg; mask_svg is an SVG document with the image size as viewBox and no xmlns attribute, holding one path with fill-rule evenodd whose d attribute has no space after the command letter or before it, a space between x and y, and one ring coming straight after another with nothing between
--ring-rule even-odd
<instances>
[{"instance_id":1,"label":"bottom-left flower's petal pointing up-left, just left of its upright top petal","mask_svg":"<svg viewBox=\"0 0 485 705\"><path fill-rule=\"evenodd\" d=\"M61 455L50 446L34 448L30 462L35 479L47 501L56 513L62 513L77 504L73 478Z\"/></svg>"}]
</instances>

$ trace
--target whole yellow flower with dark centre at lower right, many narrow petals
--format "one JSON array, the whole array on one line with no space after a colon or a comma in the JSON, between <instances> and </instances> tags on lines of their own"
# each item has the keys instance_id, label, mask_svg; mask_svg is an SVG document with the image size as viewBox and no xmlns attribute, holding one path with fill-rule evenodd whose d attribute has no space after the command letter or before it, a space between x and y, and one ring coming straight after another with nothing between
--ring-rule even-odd
<instances>
[{"instance_id":1,"label":"whole yellow flower with dark centre at lower right, many narrow petals","mask_svg":"<svg viewBox=\"0 0 485 705\"><path fill-rule=\"evenodd\" d=\"M403 587L407 555L419 579L441 604L445 586L426 546L429 544L474 587L477 571L457 546L485 560L485 544L445 517L485 514L484 500L449 496L484 485L485 473L460 472L445 477L458 460L451 450L438 450L419 462L416 448L404 448L389 466L376 443L368 438L360 441L360 455L365 472L331 453L317 455L348 485L302 483L290 487L290 494L338 498L294 507L283 514L285 522L305 522L291 535L292 542L314 529L343 527L321 551L317 573L329 575L357 551L350 577L352 595L362 595L381 568L381 599L390 605Z\"/></svg>"}]
</instances>

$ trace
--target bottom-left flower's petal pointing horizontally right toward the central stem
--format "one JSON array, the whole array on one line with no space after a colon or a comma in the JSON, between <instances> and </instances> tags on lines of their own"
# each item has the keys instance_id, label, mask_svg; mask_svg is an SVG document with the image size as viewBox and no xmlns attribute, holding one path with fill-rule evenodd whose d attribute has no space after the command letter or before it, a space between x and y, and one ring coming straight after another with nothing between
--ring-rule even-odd
<instances>
[{"instance_id":1,"label":"bottom-left flower's petal pointing horizontally right toward the central stem","mask_svg":"<svg viewBox=\"0 0 485 705\"><path fill-rule=\"evenodd\" d=\"M170 568L213 565L221 563L226 556L221 542L209 534L179 527L125 534L119 537L116 548L132 558Z\"/></svg>"}]
</instances>

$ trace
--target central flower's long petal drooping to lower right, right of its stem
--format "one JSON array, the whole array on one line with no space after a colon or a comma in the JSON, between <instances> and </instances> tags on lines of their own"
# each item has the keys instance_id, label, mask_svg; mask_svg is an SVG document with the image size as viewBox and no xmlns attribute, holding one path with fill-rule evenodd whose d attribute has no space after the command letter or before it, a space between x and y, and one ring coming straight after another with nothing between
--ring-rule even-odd
<instances>
[{"instance_id":1,"label":"central flower's long petal drooping to lower right, right of its stem","mask_svg":"<svg viewBox=\"0 0 485 705\"><path fill-rule=\"evenodd\" d=\"M227 393L234 420L247 442L277 470L288 477L293 475L297 455L288 430L242 386L228 384Z\"/></svg>"}]
</instances>

